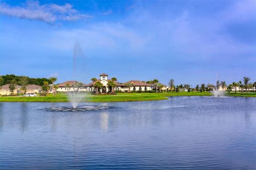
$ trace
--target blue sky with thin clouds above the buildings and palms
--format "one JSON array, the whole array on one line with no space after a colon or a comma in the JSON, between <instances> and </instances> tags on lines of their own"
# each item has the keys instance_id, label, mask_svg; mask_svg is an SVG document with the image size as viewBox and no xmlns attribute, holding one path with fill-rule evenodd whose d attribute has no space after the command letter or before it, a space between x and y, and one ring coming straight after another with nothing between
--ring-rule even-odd
<instances>
[{"instance_id":1,"label":"blue sky with thin clouds above the buildings and palms","mask_svg":"<svg viewBox=\"0 0 256 170\"><path fill-rule=\"evenodd\" d=\"M0 1L0 74L85 83L256 75L255 1ZM73 54L76 50L75 78Z\"/></svg>"}]
</instances>

